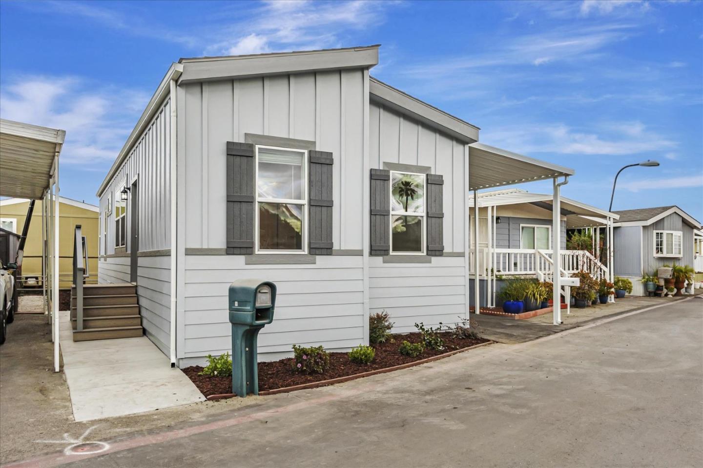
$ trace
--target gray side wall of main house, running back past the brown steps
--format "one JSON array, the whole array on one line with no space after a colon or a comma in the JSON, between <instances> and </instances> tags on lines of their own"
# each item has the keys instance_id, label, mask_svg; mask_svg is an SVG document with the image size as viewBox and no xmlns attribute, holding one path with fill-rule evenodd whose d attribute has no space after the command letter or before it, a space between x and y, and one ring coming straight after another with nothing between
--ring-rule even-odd
<instances>
[{"instance_id":1,"label":"gray side wall of main house, running back past the brown steps","mask_svg":"<svg viewBox=\"0 0 703 468\"><path fill-rule=\"evenodd\" d=\"M115 177L100 197L101 258L98 262L98 283L129 283L129 256L115 254L115 190L137 178L138 185L138 249L168 249L171 245L170 203L170 101L150 121L129 152ZM107 249L103 239L105 208L112 196L112 213L108 215ZM127 201L127 255L131 203ZM107 255L106 255L107 254ZM137 296L142 326L146 335L164 354L169 354L170 330L170 257L138 257Z\"/></svg>"}]
</instances>

